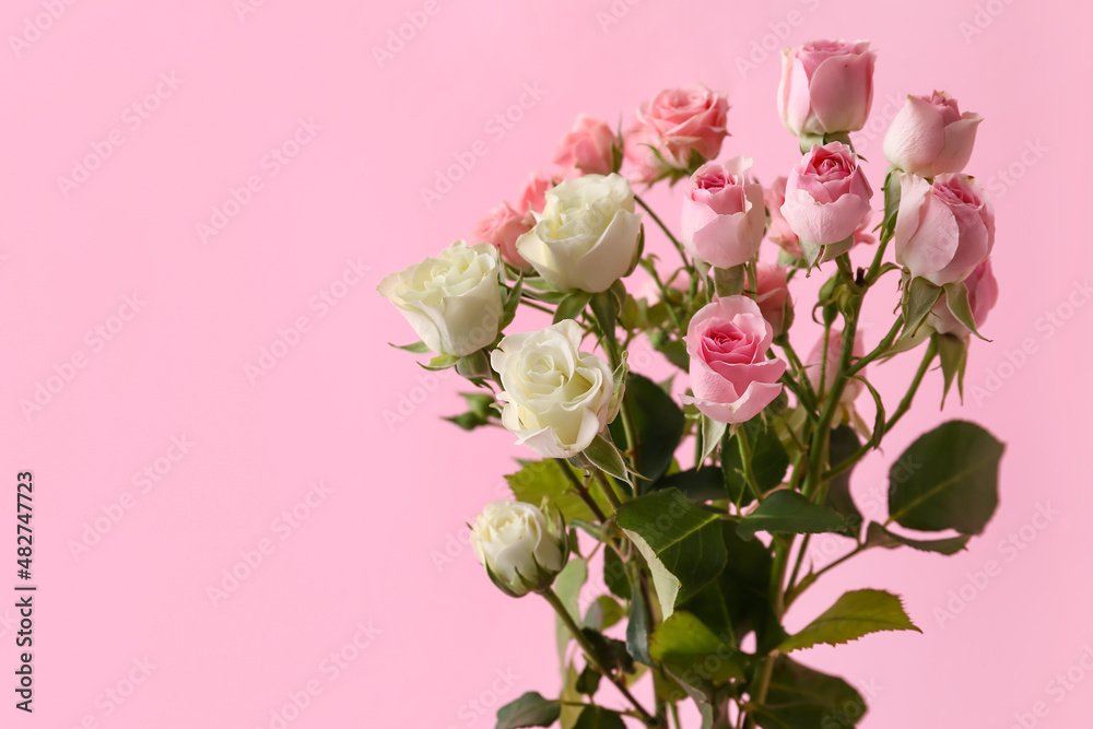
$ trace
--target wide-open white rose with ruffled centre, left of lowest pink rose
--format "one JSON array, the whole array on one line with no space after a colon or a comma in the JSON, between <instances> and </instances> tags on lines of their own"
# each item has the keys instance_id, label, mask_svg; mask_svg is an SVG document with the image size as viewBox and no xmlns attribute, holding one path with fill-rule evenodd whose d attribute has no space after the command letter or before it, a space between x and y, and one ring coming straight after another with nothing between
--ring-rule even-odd
<instances>
[{"instance_id":1,"label":"wide-open white rose with ruffled centre, left of lowest pink rose","mask_svg":"<svg viewBox=\"0 0 1093 729\"><path fill-rule=\"evenodd\" d=\"M509 334L491 352L505 388L505 427L544 458L583 451L610 423L614 381L608 363L581 352L580 326L564 319L542 331Z\"/></svg>"}]
</instances>

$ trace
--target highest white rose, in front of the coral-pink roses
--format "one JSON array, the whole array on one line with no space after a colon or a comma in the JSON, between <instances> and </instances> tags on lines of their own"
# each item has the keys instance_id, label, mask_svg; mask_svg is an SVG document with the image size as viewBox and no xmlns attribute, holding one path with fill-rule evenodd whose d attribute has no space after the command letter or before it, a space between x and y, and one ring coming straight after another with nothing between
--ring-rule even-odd
<instances>
[{"instance_id":1,"label":"highest white rose, in front of the coral-pink roses","mask_svg":"<svg viewBox=\"0 0 1093 729\"><path fill-rule=\"evenodd\" d=\"M551 188L536 221L516 249L559 291L607 291L634 262L642 217L630 183L615 173Z\"/></svg>"}]
</instances>

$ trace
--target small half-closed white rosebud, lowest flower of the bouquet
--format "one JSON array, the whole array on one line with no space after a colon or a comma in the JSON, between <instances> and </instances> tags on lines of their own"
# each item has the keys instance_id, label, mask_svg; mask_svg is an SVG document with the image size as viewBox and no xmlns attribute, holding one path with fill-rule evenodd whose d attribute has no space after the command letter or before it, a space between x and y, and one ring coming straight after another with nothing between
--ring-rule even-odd
<instances>
[{"instance_id":1,"label":"small half-closed white rosebud, lowest flower of the bouquet","mask_svg":"<svg viewBox=\"0 0 1093 729\"><path fill-rule=\"evenodd\" d=\"M522 502L486 504L471 528L471 545L494 584L513 597L551 586L565 565L561 540L538 507Z\"/></svg>"}]
</instances>

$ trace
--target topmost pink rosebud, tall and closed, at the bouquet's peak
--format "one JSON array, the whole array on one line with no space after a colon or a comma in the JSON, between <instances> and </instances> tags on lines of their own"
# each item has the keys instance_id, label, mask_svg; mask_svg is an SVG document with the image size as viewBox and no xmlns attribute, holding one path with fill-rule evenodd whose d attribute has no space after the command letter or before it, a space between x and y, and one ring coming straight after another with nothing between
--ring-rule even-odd
<instances>
[{"instance_id":1,"label":"topmost pink rosebud, tall and closed, at the bouquet's peak","mask_svg":"<svg viewBox=\"0 0 1093 729\"><path fill-rule=\"evenodd\" d=\"M781 122L798 136L861 129L873 103L875 60L867 40L814 40L781 51Z\"/></svg>"}]
</instances>

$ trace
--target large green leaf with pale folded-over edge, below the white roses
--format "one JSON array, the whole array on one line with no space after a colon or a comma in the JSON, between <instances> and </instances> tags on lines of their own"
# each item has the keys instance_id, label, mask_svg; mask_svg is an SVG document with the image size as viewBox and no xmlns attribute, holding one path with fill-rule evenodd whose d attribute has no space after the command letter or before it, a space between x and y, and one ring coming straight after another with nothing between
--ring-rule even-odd
<instances>
[{"instance_id":1,"label":"large green leaf with pale folded-over edge, below the white roses","mask_svg":"<svg viewBox=\"0 0 1093 729\"><path fill-rule=\"evenodd\" d=\"M677 489L626 502L615 520L649 563L665 618L725 567L720 519Z\"/></svg>"}]
</instances>

